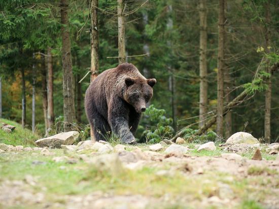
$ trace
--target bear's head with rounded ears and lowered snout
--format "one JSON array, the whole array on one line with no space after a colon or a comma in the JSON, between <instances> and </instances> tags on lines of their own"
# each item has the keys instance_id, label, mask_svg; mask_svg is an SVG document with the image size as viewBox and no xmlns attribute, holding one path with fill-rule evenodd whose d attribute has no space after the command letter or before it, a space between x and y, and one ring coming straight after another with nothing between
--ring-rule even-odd
<instances>
[{"instance_id":1,"label":"bear's head with rounded ears and lowered snout","mask_svg":"<svg viewBox=\"0 0 279 209\"><path fill-rule=\"evenodd\" d=\"M124 100L134 107L135 111L142 113L146 111L146 103L153 95L153 86L156 79L125 78Z\"/></svg>"}]
</instances>

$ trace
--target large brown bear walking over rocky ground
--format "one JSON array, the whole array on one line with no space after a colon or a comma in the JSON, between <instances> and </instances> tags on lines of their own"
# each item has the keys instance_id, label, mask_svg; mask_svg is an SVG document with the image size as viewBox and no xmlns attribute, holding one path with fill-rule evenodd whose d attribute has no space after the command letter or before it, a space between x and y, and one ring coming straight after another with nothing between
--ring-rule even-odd
<instances>
[{"instance_id":1,"label":"large brown bear walking over rocky ground","mask_svg":"<svg viewBox=\"0 0 279 209\"><path fill-rule=\"evenodd\" d=\"M85 111L95 139L106 140L113 131L122 143L135 143L133 134L155 84L156 79L146 79L130 63L98 75L85 93Z\"/></svg>"}]
</instances>

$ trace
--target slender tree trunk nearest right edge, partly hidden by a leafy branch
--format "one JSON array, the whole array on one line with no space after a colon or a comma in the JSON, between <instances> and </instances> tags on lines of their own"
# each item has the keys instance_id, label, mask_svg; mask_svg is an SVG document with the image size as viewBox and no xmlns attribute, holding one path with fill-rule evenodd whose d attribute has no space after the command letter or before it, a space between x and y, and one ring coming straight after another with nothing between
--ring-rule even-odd
<instances>
[{"instance_id":1,"label":"slender tree trunk nearest right edge, partly hidden by a leafy branch","mask_svg":"<svg viewBox=\"0 0 279 209\"><path fill-rule=\"evenodd\" d=\"M266 11L266 31L265 31L265 49L266 53L270 53L270 7L269 1L265 5ZM271 112L271 69L267 68L267 73L270 74L270 77L266 79L267 89L265 90L265 112L264 112L264 138L265 143L270 144L270 137L271 137L271 128L270 128L270 112Z\"/></svg>"}]
</instances>

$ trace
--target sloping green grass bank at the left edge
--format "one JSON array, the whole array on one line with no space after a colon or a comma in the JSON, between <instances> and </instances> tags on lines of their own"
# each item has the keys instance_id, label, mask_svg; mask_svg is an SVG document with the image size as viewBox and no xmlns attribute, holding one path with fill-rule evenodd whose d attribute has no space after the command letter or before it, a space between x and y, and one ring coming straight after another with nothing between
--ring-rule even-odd
<instances>
[{"instance_id":1,"label":"sloping green grass bank at the left edge","mask_svg":"<svg viewBox=\"0 0 279 209\"><path fill-rule=\"evenodd\" d=\"M23 129L20 124L14 121L0 119L0 125L2 125L2 123L13 125L16 128L11 133L7 133L6 131L0 129L0 143L13 146L22 145L24 147L34 147L34 141L40 138L39 135L33 134L32 131L27 128Z\"/></svg>"}]
</instances>

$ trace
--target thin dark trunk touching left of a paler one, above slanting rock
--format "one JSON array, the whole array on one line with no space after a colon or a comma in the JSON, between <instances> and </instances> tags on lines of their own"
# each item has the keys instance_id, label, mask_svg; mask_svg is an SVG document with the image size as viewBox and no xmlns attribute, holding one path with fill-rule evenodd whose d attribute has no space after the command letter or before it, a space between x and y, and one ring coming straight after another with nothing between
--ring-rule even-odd
<instances>
[{"instance_id":1,"label":"thin dark trunk touching left of a paler one, above slanting rock","mask_svg":"<svg viewBox=\"0 0 279 209\"><path fill-rule=\"evenodd\" d=\"M41 75L42 75L42 97L43 97L43 112L45 120L45 135L48 135L48 90L47 90L47 69L44 61L41 66Z\"/></svg>"}]
</instances>

